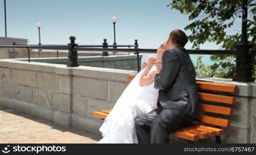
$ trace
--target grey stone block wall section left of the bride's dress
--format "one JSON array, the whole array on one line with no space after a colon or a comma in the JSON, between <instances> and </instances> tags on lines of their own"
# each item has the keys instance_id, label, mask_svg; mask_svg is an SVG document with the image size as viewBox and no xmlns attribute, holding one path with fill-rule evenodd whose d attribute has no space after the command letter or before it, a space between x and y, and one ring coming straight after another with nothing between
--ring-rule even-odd
<instances>
[{"instance_id":1,"label":"grey stone block wall section left of the bride's dress","mask_svg":"<svg viewBox=\"0 0 256 155\"><path fill-rule=\"evenodd\" d=\"M99 133L93 111L112 108L134 71L0 60L0 105Z\"/></svg>"}]
</instances>

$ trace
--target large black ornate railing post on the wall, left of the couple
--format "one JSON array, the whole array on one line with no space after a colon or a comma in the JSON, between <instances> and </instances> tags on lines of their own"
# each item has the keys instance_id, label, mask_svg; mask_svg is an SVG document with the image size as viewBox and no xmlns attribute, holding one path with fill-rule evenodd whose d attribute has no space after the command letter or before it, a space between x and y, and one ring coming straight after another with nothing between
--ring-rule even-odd
<instances>
[{"instance_id":1,"label":"large black ornate railing post on the wall, left of the couple","mask_svg":"<svg viewBox=\"0 0 256 155\"><path fill-rule=\"evenodd\" d=\"M75 37L70 37L70 43L68 44L68 64L67 67L78 67L78 60L77 60L77 51L75 50L77 43L75 43Z\"/></svg>"}]
</instances>

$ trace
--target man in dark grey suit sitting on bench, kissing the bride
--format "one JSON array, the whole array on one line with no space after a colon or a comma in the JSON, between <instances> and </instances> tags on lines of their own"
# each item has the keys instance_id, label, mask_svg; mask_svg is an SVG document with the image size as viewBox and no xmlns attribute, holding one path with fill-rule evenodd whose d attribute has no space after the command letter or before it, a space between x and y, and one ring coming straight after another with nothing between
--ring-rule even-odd
<instances>
[{"instance_id":1,"label":"man in dark grey suit sitting on bench, kissing the bride","mask_svg":"<svg viewBox=\"0 0 256 155\"><path fill-rule=\"evenodd\" d=\"M169 143L169 134L198 119L195 69L185 44L188 39L173 30L157 50L157 71L150 73L159 89L160 106L135 119L140 144Z\"/></svg>"}]
</instances>

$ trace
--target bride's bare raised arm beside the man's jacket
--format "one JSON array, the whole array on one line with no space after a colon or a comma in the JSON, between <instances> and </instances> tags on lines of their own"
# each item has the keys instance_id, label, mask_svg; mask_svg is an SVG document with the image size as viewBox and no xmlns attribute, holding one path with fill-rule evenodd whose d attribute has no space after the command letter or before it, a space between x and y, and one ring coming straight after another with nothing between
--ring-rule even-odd
<instances>
[{"instance_id":1,"label":"bride's bare raised arm beside the man's jacket","mask_svg":"<svg viewBox=\"0 0 256 155\"><path fill-rule=\"evenodd\" d=\"M149 76L147 76L147 74L149 73L151 67L154 65L154 62L156 61L156 57L155 56L149 56L147 57L147 59L149 60L149 65L146 66L145 71L143 72L141 79L140 79L140 86L145 86L145 85L149 85L151 84L154 80L151 79Z\"/></svg>"}]
</instances>

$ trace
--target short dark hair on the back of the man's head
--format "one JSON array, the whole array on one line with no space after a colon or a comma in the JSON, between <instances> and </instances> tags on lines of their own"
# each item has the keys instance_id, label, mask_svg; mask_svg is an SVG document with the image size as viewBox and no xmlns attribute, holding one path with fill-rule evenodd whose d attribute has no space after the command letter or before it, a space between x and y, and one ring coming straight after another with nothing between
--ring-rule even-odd
<instances>
[{"instance_id":1,"label":"short dark hair on the back of the man's head","mask_svg":"<svg viewBox=\"0 0 256 155\"><path fill-rule=\"evenodd\" d=\"M170 33L171 42L177 46L184 47L188 41L186 34L180 29L174 29Z\"/></svg>"}]
</instances>

